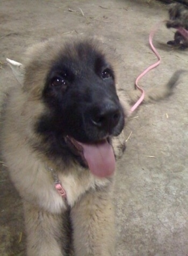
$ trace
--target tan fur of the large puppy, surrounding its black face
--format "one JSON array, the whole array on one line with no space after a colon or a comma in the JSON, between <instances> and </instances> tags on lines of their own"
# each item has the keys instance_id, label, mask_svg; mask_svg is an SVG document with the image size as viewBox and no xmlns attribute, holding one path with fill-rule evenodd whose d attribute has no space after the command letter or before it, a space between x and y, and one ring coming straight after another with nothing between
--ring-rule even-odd
<instances>
[{"instance_id":1,"label":"tan fur of the large puppy, surrounding its black face","mask_svg":"<svg viewBox=\"0 0 188 256\"><path fill-rule=\"evenodd\" d=\"M73 38L65 40L73 45ZM33 126L40 114L47 111L41 102L42 86L52 61L63 51L62 45L62 39L57 38L28 50L24 71L21 67L23 78L19 80L24 83L11 88L3 109L2 154L12 182L23 198L28 256L68 255L71 228L76 256L114 256L113 177L95 177L76 163L68 168L62 161L51 161L31 147L34 141L42 143ZM104 51L103 46L98 47L114 63L112 52ZM127 117L129 105L125 93L118 91L118 94ZM123 133L112 143L118 158L125 148ZM59 176L67 192L67 202L55 190L48 168L53 168Z\"/></svg>"}]
</instances>

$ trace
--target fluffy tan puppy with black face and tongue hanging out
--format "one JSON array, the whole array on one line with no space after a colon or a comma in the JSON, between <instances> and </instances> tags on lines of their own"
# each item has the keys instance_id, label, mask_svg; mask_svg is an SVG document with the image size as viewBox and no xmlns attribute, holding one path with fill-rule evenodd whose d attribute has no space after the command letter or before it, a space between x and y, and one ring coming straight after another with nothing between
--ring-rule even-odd
<instances>
[{"instance_id":1,"label":"fluffy tan puppy with black face and tongue hanging out","mask_svg":"<svg viewBox=\"0 0 188 256\"><path fill-rule=\"evenodd\" d=\"M1 149L23 199L28 256L69 255L70 240L77 256L115 254L114 155L125 144L113 138L127 110L112 55L96 39L60 37L35 45L18 65Z\"/></svg>"}]
</instances>

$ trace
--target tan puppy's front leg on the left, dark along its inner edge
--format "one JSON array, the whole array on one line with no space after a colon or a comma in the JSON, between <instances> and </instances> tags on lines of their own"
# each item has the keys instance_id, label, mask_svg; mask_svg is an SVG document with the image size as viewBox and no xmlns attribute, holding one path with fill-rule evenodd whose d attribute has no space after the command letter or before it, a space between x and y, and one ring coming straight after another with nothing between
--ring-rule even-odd
<instances>
[{"instance_id":1,"label":"tan puppy's front leg on the left, dark along its inner edge","mask_svg":"<svg viewBox=\"0 0 188 256\"><path fill-rule=\"evenodd\" d=\"M67 256L68 212L52 214L24 202L27 256Z\"/></svg>"}]
</instances>

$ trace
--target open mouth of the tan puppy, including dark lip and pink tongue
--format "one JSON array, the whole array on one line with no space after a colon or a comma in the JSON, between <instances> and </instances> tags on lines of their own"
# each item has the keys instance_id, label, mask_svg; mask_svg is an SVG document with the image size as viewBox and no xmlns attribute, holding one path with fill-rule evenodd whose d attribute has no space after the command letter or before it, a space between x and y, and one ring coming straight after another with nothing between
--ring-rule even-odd
<instances>
[{"instance_id":1,"label":"open mouth of the tan puppy, including dark lip and pink tongue","mask_svg":"<svg viewBox=\"0 0 188 256\"><path fill-rule=\"evenodd\" d=\"M111 176L115 170L115 156L111 144L104 139L96 143L81 143L66 136L66 142L74 154L82 157L93 175Z\"/></svg>"}]
</instances>

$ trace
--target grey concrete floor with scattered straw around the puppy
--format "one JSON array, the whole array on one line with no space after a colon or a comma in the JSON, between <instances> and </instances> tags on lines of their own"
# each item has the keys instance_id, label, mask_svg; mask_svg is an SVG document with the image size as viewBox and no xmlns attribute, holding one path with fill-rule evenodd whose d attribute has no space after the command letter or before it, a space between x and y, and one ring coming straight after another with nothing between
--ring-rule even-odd
<instances>
[{"instance_id":1,"label":"grey concrete floor with scattered straw around the puppy","mask_svg":"<svg viewBox=\"0 0 188 256\"><path fill-rule=\"evenodd\" d=\"M1 89L15 82L6 57L19 61L35 41L73 31L104 36L116 47L119 84L129 90L155 62L148 36L166 18L167 6L154 0L1 0ZM144 88L165 84L173 72L187 69L188 50L167 46L172 37L164 25L155 34L162 62L142 78ZM132 135L118 162L116 256L188 255L187 80L184 73L170 98L142 105L125 128L125 136ZM25 255L21 202L3 165L0 199L0 255Z\"/></svg>"}]
</instances>

